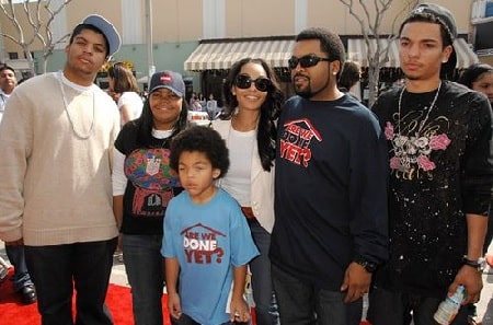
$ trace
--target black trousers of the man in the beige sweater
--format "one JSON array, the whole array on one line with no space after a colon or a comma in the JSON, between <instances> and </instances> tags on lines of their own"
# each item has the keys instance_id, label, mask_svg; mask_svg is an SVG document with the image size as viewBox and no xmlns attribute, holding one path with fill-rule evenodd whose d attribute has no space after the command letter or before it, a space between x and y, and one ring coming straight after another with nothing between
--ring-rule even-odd
<instances>
[{"instance_id":1,"label":"black trousers of the man in the beige sweater","mask_svg":"<svg viewBox=\"0 0 493 325\"><path fill-rule=\"evenodd\" d=\"M42 325L112 325L106 307L116 237L51 246L24 246L25 262L37 292ZM72 316L77 291L76 323Z\"/></svg>"}]
</instances>

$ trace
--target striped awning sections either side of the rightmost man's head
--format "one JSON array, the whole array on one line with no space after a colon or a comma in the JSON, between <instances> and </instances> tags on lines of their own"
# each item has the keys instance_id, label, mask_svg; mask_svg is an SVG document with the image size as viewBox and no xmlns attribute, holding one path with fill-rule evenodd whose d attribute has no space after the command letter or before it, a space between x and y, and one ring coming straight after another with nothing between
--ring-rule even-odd
<instances>
[{"instance_id":1,"label":"striped awning sections either side of the rightmost man's head","mask_svg":"<svg viewBox=\"0 0 493 325\"><path fill-rule=\"evenodd\" d=\"M379 39L380 50L385 50L390 43L389 51L382 67L399 68L399 44L398 40L389 40L387 38ZM377 40L370 39L369 48L371 53L375 53L377 48ZM478 62L478 56L472 51L469 45L463 38L457 38L454 42L454 48L457 53L457 66L458 69L465 69L472 63ZM349 38L347 39L347 59L358 62L362 67L368 67L368 46L364 38Z\"/></svg>"}]
</instances>

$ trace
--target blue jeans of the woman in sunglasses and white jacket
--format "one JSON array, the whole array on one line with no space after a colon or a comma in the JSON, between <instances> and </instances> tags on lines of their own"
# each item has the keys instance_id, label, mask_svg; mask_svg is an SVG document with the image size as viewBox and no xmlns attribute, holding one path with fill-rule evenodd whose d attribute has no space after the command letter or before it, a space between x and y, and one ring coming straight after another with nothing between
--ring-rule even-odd
<instances>
[{"instance_id":1,"label":"blue jeans of the woman in sunglasses and white jacket","mask_svg":"<svg viewBox=\"0 0 493 325\"><path fill-rule=\"evenodd\" d=\"M279 314L272 288L271 260L268 258L271 234L255 219L249 219L249 224L253 241L261 254L250 262L256 324L277 325L279 324Z\"/></svg>"}]
</instances>

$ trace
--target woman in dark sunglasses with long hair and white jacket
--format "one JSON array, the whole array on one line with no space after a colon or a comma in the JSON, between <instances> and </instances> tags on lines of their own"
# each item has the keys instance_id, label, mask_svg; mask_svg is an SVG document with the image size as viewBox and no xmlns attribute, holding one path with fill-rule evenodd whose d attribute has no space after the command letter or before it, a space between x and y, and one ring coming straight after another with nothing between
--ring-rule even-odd
<instances>
[{"instance_id":1,"label":"woman in dark sunglasses with long hair and white jacket","mask_svg":"<svg viewBox=\"0 0 493 325\"><path fill-rule=\"evenodd\" d=\"M241 205L261 253L250 263L257 325L278 324L268 247L274 224L275 120L283 104L276 76L263 59L236 62L223 85L225 112L213 121L229 148L220 186Z\"/></svg>"}]
</instances>

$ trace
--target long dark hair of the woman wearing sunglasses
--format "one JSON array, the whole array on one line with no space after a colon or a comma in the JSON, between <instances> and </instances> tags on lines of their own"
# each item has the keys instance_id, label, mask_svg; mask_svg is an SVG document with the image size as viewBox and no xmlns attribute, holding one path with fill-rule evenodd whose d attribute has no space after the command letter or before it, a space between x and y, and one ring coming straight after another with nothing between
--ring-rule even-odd
<instances>
[{"instance_id":1,"label":"long dark hair of the woman wearing sunglasses","mask_svg":"<svg viewBox=\"0 0 493 325\"><path fill-rule=\"evenodd\" d=\"M273 69L260 58L244 58L236 62L223 84L223 98L225 98L225 112L222 119L231 119L238 106L237 96L231 93L231 89L234 85L234 80L240 73L241 68L246 63L261 65L267 73L267 78L272 81L272 84L267 91L267 97L260 108L259 127L256 132L256 143L259 147L259 155L262 162L262 167L265 171L271 171L273 160L275 159L275 143L277 137L277 129L275 120L279 117L280 107L284 102L284 94L280 91L277 77Z\"/></svg>"}]
</instances>

